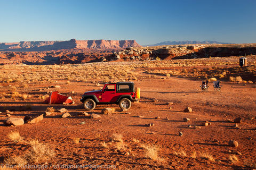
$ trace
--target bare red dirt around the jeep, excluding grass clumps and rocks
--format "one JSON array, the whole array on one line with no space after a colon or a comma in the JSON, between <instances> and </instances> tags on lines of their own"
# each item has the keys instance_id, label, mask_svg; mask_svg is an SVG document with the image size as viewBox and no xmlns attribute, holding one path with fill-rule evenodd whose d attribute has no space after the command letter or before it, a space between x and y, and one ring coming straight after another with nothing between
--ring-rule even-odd
<instances>
[{"instance_id":1,"label":"bare red dirt around the jeep, excluding grass clumps and rocks","mask_svg":"<svg viewBox=\"0 0 256 170\"><path fill-rule=\"evenodd\" d=\"M256 100L255 84L236 84L223 82L221 92L214 93L212 83L209 92L201 92L201 81L171 77L169 79L139 79L135 85L141 89L139 103L133 103L129 112L123 114L117 105L116 113L101 115L100 121L95 121L85 116L77 116L84 112L79 102L84 91L94 89L91 82L71 81L70 84L58 80L61 84L62 94L73 97L75 105L51 105L55 109L65 107L73 116L61 118L54 113L46 116L37 124L24 124L17 127L7 127L1 124L0 157L21 155L28 151L26 142L13 143L7 138L11 131L19 131L24 140L38 139L42 143L49 143L56 152L56 156L45 165L115 165L116 169L241 169L245 167L247 160L256 159ZM7 84L2 83L1 92L6 92ZM15 85L12 83L12 85ZM29 91L18 89L33 95L30 100L13 100L11 98L0 99L0 119L4 120L5 110L12 111L12 116L23 117L44 113L49 105L41 104L35 96L47 90L38 91L51 84L30 84ZM54 90L54 89L52 89ZM75 91L71 94L70 91ZM154 100L158 100L154 102ZM173 105L166 105L173 102ZM31 111L19 111L20 106L31 105ZM185 113L185 107L191 107L192 113ZM89 113L100 114L101 109L107 105L97 106ZM171 108L170 108L171 107ZM137 117L138 115L144 117ZM156 116L160 118L155 119ZM242 117L241 129L233 128L236 117ZM166 120L169 117L169 120ZM190 118L190 122L183 122L183 118ZM204 121L212 123L210 126L202 126ZM85 122L85 124L81 124ZM146 127L147 123L155 126ZM190 129L189 125L198 125L201 129ZM182 132L180 137L178 134ZM129 156L118 154L115 143L110 137L113 133L123 135L126 151ZM72 138L81 138L77 144ZM249 137L252 139L249 140ZM164 160L153 161L146 158L140 143L153 144L159 147L159 157ZM214 141L215 140L215 141ZM236 140L237 148L229 147L228 141ZM102 148L101 142L106 142L109 148ZM111 145L110 145L111 143ZM185 151L187 156L175 155L174 152ZM201 151L209 151L215 158L215 162L197 156L191 158L193 151L197 154ZM229 150L242 153L236 155L237 163L228 160ZM43 164L43 163L42 163ZM41 164L41 165L42 165ZM52 168L51 168L52 169ZM58 168L57 168L58 169ZM70 168L71 169L71 168Z\"/></svg>"}]
</instances>

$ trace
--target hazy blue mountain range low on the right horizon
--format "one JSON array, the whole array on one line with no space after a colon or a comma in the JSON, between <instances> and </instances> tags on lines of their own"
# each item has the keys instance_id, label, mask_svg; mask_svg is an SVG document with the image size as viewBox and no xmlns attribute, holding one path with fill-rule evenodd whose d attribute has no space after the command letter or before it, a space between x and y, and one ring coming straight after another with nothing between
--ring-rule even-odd
<instances>
[{"instance_id":1,"label":"hazy blue mountain range low on the right horizon","mask_svg":"<svg viewBox=\"0 0 256 170\"><path fill-rule=\"evenodd\" d=\"M231 44L231 43L220 43L218 41L164 41L162 43L146 45L146 46L181 45L181 44Z\"/></svg>"}]
</instances>

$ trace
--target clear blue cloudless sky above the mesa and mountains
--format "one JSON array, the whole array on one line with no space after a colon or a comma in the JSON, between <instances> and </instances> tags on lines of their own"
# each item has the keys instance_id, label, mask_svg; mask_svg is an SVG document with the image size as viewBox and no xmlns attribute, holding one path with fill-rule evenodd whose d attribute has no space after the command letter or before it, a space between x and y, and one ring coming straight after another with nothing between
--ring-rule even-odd
<instances>
[{"instance_id":1,"label":"clear blue cloudless sky above the mesa and mountains","mask_svg":"<svg viewBox=\"0 0 256 170\"><path fill-rule=\"evenodd\" d=\"M256 1L0 0L0 42L135 39L256 43Z\"/></svg>"}]
</instances>

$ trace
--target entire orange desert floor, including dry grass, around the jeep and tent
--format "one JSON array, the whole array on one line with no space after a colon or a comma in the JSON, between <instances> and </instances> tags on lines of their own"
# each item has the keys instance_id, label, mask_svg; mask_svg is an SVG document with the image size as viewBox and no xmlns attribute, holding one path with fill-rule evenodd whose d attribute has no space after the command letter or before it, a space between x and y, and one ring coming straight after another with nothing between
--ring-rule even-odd
<instances>
[{"instance_id":1,"label":"entire orange desert floor, including dry grass, around the jeep and tent","mask_svg":"<svg viewBox=\"0 0 256 170\"><path fill-rule=\"evenodd\" d=\"M247 67L238 66L238 56L1 65L0 169L22 163L38 165L30 169L255 169L256 60L247 58ZM212 78L221 80L220 91L214 92ZM202 92L199 86L208 79L209 90ZM139 102L125 112L118 105L98 105L89 115L81 114L85 91L117 81L140 87ZM43 104L52 91L71 96L75 104ZM101 114L106 107L115 112ZM184 112L186 107L193 112ZM71 116L62 118L60 108ZM46 110L51 115L38 123L3 123L7 114L23 118ZM91 118L92 113L100 118ZM241 123L234 123L237 117ZM20 137L14 139L12 132ZM229 146L230 140L238 147Z\"/></svg>"}]
</instances>

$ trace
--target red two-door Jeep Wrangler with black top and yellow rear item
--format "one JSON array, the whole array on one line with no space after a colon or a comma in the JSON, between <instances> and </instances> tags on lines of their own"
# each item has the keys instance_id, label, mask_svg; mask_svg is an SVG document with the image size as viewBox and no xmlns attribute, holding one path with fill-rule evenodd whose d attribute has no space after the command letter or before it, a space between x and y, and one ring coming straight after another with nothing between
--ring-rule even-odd
<instances>
[{"instance_id":1,"label":"red two-door Jeep Wrangler with black top and yellow rear item","mask_svg":"<svg viewBox=\"0 0 256 170\"><path fill-rule=\"evenodd\" d=\"M132 101L140 98L140 88L133 82L107 83L102 90L87 91L80 101L87 111L92 111L99 104L119 104L120 108L129 109Z\"/></svg>"}]
</instances>

